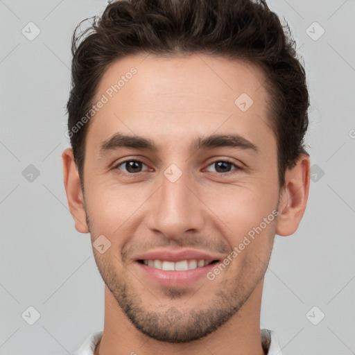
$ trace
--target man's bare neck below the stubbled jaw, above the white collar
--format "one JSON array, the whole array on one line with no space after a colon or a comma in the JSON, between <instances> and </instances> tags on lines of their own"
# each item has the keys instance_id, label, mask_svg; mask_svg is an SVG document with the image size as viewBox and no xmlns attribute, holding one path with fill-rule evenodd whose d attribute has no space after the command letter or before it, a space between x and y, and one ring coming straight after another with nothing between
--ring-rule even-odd
<instances>
[{"instance_id":1,"label":"man's bare neck below the stubbled jaw, above the white collar","mask_svg":"<svg viewBox=\"0 0 355 355\"><path fill-rule=\"evenodd\" d=\"M105 286L103 337L94 355L265 355L260 334L262 288L263 280L243 307L208 336L189 343L164 343L136 329Z\"/></svg>"}]
</instances>

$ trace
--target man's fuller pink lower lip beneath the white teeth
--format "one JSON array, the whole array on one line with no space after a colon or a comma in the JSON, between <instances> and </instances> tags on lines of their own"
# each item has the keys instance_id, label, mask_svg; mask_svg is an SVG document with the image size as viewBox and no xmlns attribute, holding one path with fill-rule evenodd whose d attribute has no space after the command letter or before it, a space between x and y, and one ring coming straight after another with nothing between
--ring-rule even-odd
<instances>
[{"instance_id":1,"label":"man's fuller pink lower lip beneath the white teeth","mask_svg":"<svg viewBox=\"0 0 355 355\"><path fill-rule=\"evenodd\" d=\"M139 263L137 261L138 267L141 272L147 275L150 279L157 282L162 286L189 286L193 282L202 279L202 277L207 277L207 273L216 267L218 263L210 263L207 266L202 266L201 268L184 270L184 271L165 271L152 266L145 265L144 263Z\"/></svg>"}]
</instances>

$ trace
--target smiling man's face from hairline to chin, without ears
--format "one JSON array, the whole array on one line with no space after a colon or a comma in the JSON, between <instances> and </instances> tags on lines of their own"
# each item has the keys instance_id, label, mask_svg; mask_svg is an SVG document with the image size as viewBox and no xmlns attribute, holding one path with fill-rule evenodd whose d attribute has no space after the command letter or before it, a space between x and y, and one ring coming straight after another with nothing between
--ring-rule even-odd
<instances>
[{"instance_id":1,"label":"smiling man's face from hairline to chin, without ears","mask_svg":"<svg viewBox=\"0 0 355 355\"><path fill-rule=\"evenodd\" d=\"M223 58L135 55L98 86L85 211L92 242L111 244L94 256L116 305L152 338L210 334L263 279L279 202L263 80Z\"/></svg>"}]
</instances>

